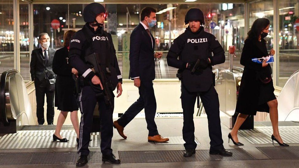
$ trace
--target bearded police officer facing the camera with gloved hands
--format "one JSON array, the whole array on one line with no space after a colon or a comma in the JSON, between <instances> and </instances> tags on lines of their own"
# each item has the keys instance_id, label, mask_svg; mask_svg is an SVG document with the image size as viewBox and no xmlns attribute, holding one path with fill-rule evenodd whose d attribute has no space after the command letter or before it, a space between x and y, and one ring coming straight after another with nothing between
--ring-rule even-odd
<instances>
[{"instance_id":1,"label":"bearded police officer facing the camera with gloved hands","mask_svg":"<svg viewBox=\"0 0 299 168\"><path fill-rule=\"evenodd\" d=\"M186 142L184 156L195 154L193 113L197 96L202 100L208 117L210 154L231 156L232 152L225 151L223 147L219 99L212 73L213 65L225 62L224 50L214 35L204 31L204 15L200 9L190 9L185 16L185 24L189 26L173 41L167 55L168 65L181 72L183 139Z\"/></svg>"}]
</instances>

